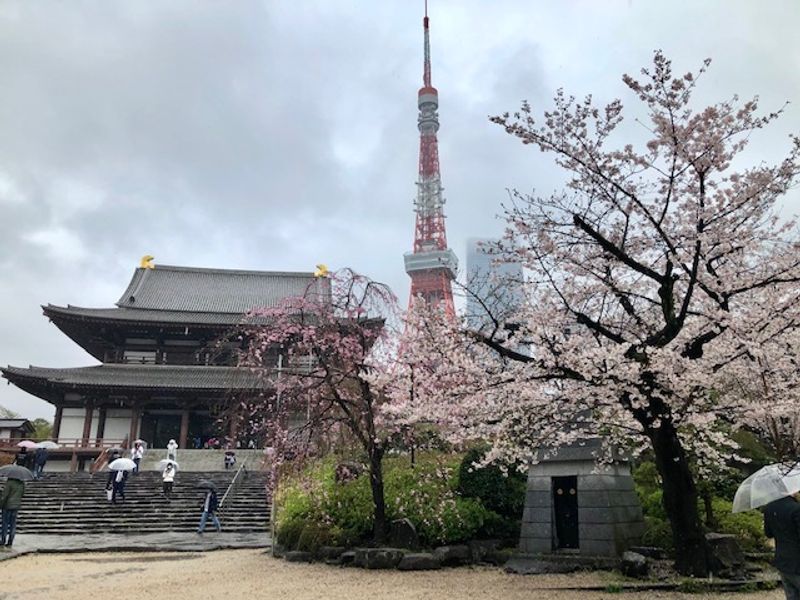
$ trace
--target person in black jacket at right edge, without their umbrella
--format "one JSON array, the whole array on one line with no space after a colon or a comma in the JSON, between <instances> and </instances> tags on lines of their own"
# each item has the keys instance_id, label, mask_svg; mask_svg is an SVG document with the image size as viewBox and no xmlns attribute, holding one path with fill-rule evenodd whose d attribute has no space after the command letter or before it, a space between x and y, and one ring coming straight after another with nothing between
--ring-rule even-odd
<instances>
[{"instance_id":1,"label":"person in black jacket at right edge, without their umbrella","mask_svg":"<svg viewBox=\"0 0 800 600\"><path fill-rule=\"evenodd\" d=\"M775 538L772 564L780 571L787 600L800 600L800 502L796 496L764 507L764 533Z\"/></svg>"}]
</instances>

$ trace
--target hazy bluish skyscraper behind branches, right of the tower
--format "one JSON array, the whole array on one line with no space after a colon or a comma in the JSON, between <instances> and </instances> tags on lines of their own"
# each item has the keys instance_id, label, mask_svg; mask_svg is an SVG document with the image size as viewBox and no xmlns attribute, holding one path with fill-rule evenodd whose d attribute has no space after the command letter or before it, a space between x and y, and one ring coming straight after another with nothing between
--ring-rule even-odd
<instances>
[{"instance_id":1,"label":"hazy bluish skyscraper behind branches, right of the tower","mask_svg":"<svg viewBox=\"0 0 800 600\"><path fill-rule=\"evenodd\" d=\"M520 283L522 265L497 262L497 256L487 252L491 238L467 240L467 323L480 330L494 319L513 320L512 314L522 304Z\"/></svg>"}]
</instances>

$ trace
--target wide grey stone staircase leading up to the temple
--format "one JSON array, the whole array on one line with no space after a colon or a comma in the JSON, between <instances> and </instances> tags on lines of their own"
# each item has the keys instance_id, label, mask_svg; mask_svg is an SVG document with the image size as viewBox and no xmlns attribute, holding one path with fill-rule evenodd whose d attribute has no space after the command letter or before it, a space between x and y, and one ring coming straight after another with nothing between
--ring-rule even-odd
<instances>
[{"instance_id":1,"label":"wide grey stone staircase leading up to the temple","mask_svg":"<svg viewBox=\"0 0 800 600\"><path fill-rule=\"evenodd\" d=\"M197 482L213 481L221 501L235 473L181 470L175 477L171 500L161 494L160 473L131 474L125 486L125 502L120 504L107 500L108 471L93 476L45 473L39 481L25 484L17 530L57 535L192 532L200 521L204 498L204 491L195 487ZM220 509L222 529L231 533L266 532L270 519L265 491L267 474L248 471L240 477L235 493ZM209 531L208 526L206 530Z\"/></svg>"}]
</instances>

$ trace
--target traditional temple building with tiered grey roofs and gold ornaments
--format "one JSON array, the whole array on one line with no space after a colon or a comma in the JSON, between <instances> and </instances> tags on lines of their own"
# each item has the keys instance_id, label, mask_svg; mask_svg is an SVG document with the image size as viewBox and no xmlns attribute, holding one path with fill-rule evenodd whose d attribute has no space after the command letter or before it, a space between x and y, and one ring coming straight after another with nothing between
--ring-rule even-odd
<instances>
[{"instance_id":1,"label":"traditional temple building with tiered grey roofs and gold ornaments","mask_svg":"<svg viewBox=\"0 0 800 600\"><path fill-rule=\"evenodd\" d=\"M148 257L146 257L148 258ZM43 307L56 327L99 365L0 369L3 377L55 407L53 439L103 447L142 438L180 448L235 439L220 418L231 395L263 383L235 366L231 335L254 308L309 293L330 299L330 281L313 273L153 265L143 259L111 308ZM277 352L276 352L277 363Z\"/></svg>"}]
</instances>

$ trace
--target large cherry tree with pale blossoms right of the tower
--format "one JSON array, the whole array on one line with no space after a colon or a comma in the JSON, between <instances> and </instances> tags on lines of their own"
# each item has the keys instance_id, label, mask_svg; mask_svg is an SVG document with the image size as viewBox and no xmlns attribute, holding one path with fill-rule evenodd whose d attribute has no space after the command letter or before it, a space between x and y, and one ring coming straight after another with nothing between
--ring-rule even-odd
<instances>
[{"instance_id":1,"label":"large cherry tree with pale blossoms right of the tower","mask_svg":"<svg viewBox=\"0 0 800 600\"><path fill-rule=\"evenodd\" d=\"M599 458L651 450L677 567L694 575L708 560L690 460L720 465L736 447L730 424L768 408L766 389L758 402L718 390L773 360L800 322L796 225L778 214L800 141L776 165L734 170L749 136L783 109L760 115L757 99L738 97L693 108L709 63L677 76L656 52L641 78L623 78L649 117L639 150L618 144L619 100L598 107L559 91L541 123L528 103L491 119L550 153L566 189L513 192L505 206L492 252L526 271L516 314L472 329L429 308L410 315L411 347L428 361L428 381L417 375L425 400L393 405L453 438L490 440L488 460L530 463L588 438L603 441Z\"/></svg>"}]
</instances>

